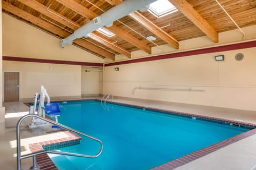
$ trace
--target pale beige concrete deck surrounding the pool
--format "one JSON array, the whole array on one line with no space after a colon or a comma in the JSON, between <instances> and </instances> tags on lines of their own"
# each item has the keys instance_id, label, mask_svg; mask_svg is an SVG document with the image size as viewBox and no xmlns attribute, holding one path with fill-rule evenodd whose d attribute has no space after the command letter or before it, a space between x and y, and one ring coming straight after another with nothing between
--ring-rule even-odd
<instances>
[{"instance_id":1,"label":"pale beige concrete deck surrounding the pool","mask_svg":"<svg viewBox=\"0 0 256 170\"><path fill-rule=\"evenodd\" d=\"M76 99L101 99L101 97L85 97ZM55 100L63 100L55 98ZM74 99L65 99L74 100ZM52 99L53 101L53 99ZM210 106L198 106L189 104L178 104L178 103L168 103L162 101L153 100L141 100L141 99L131 99L131 98L121 98L114 97L113 99L116 103L124 103L136 106L142 106L146 108L157 108L164 109L168 111L175 111L181 113L189 113L195 115L203 115L209 117L215 117L225 120L246 122L256 124L256 111L242 111L237 109L229 108L219 108ZM19 118L22 115L28 114L28 107L22 102L4 102L5 107L5 123L0 123L0 165L3 169L15 169L16 168L16 148L15 148L15 126ZM29 147L31 143L30 138L37 137L37 142L45 141L47 138L52 139L51 135L59 133L66 137L66 134L60 134L60 132L44 132L42 134L41 130L28 130L26 125L22 125L21 129L22 139L27 139L27 143L22 146L22 153L29 152ZM46 137L48 135L48 137ZM58 135L55 135L58 136ZM40 138L41 137L41 138ZM62 137L61 137L62 138ZM23 143L26 140L23 140ZM193 160L185 165L179 166L175 169L249 169L256 170L256 135L254 133L250 134L242 140L238 140L231 145L218 149L211 154L206 154L196 160ZM31 159L24 159L22 162L22 168L28 169L31 166ZM168 166L162 166L155 169L173 169L168 168Z\"/></svg>"}]
</instances>

